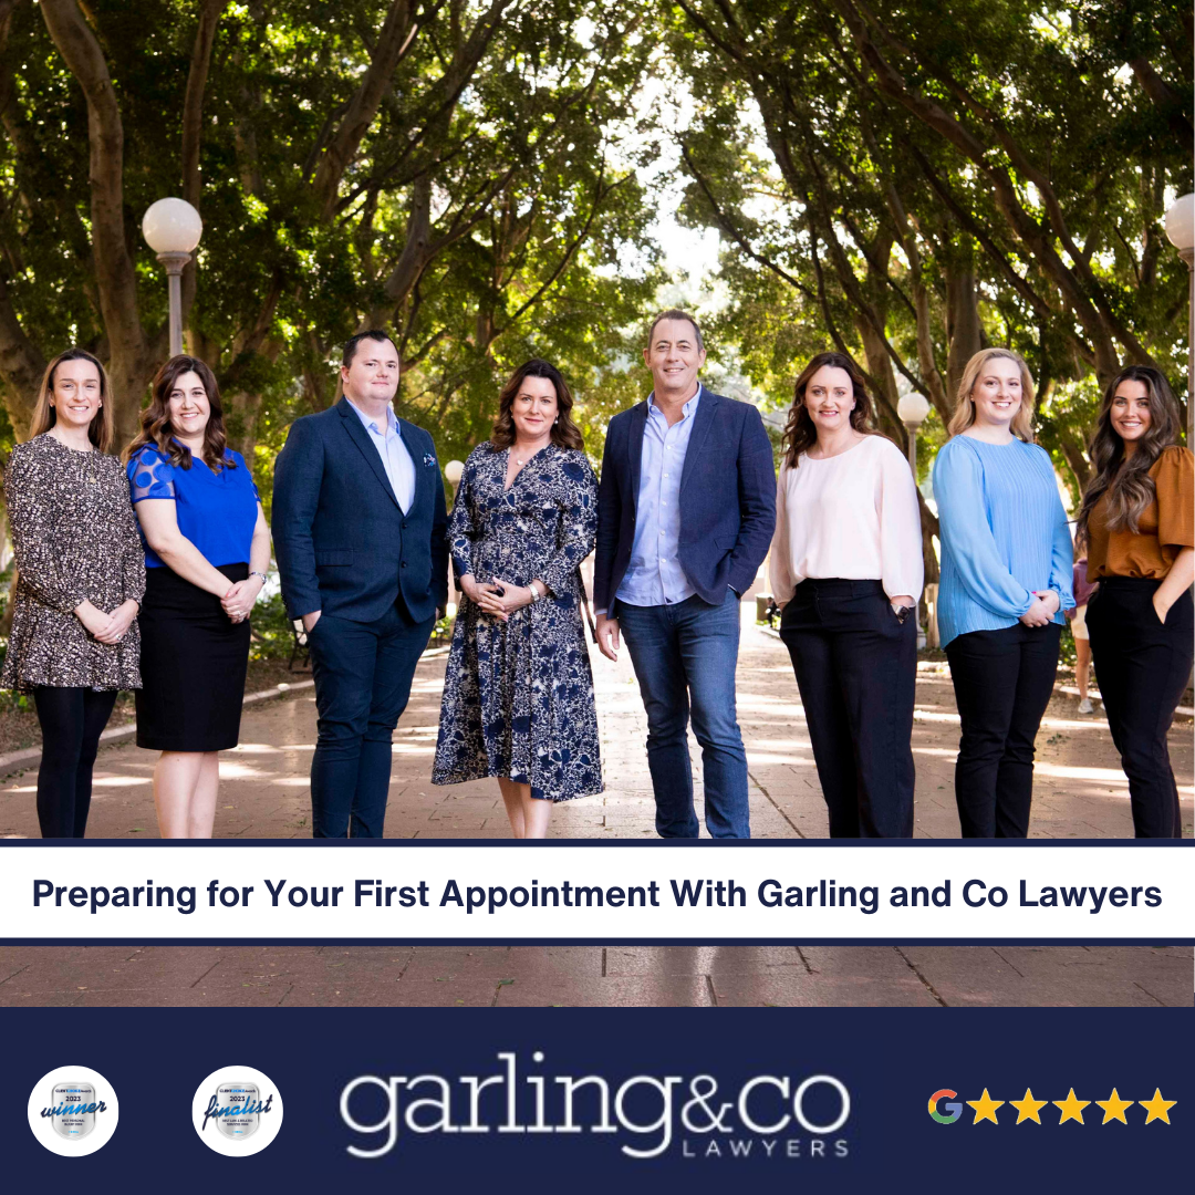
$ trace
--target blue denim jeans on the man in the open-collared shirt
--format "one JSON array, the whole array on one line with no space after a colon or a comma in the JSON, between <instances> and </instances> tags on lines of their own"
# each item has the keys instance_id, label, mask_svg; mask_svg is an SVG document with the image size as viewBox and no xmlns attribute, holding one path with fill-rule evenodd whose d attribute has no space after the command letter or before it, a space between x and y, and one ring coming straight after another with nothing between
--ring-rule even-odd
<instances>
[{"instance_id":1,"label":"blue denim jeans on the man in the open-collared shirt","mask_svg":"<svg viewBox=\"0 0 1195 1195\"><path fill-rule=\"evenodd\" d=\"M648 767L656 793L656 833L697 838L688 759L690 706L701 744L705 826L711 838L750 838L747 753L735 718L739 599L721 606L694 594L675 606L615 606L648 711Z\"/></svg>"}]
</instances>

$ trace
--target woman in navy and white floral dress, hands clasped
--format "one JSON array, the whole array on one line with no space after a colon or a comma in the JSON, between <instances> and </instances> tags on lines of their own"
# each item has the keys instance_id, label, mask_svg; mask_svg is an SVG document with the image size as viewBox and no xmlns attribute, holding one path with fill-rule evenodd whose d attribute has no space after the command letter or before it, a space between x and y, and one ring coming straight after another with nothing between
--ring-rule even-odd
<instances>
[{"instance_id":1,"label":"woman in navy and white floral dress, hands clasped","mask_svg":"<svg viewBox=\"0 0 1195 1195\"><path fill-rule=\"evenodd\" d=\"M520 367L448 521L464 599L431 783L496 777L515 838L544 838L554 802L602 791L580 570L598 479L571 407L554 366Z\"/></svg>"}]
</instances>

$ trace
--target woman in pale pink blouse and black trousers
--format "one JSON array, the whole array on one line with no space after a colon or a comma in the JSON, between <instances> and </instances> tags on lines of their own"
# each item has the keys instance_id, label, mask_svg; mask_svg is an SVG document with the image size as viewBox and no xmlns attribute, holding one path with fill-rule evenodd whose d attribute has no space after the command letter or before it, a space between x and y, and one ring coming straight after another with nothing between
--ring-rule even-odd
<instances>
[{"instance_id":1,"label":"woman in pale pink blouse and black trousers","mask_svg":"<svg viewBox=\"0 0 1195 1195\"><path fill-rule=\"evenodd\" d=\"M871 423L854 362L815 356L797 379L776 497L772 594L831 838L913 834L921 519L908 462Z\"/></svg>"}]
</instances>

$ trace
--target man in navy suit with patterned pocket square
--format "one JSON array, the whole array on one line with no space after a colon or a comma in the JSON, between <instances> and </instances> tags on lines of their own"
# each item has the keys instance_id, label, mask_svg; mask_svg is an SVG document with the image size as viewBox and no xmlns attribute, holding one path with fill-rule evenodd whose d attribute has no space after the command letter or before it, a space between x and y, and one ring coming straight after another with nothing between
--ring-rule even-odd
<instances>
[{"instance_id":1,"label":"man in navy suit with patterned pocket square","mask_svg":"<svg viewBox=\"0 0 1195 1195\"><path fill-rule=\"evenodd\" d=\"M344 345L344 397L296 419L274 472L274 550L307 630L319 735L315 838L381 838L391 737L448 601L445 489L431 436L394 415L385 332Z\"/></svg>"}]
</instances>

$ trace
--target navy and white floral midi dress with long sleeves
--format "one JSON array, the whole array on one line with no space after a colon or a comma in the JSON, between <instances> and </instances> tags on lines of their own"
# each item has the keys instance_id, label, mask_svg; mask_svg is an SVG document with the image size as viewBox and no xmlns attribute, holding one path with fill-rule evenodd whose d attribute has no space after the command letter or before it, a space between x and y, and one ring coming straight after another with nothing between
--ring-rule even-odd
<instances>
[{"instance_id":1,"label":"navy and white floral midi dress with long sleeves","mask_svg":"<svg viewBox=\"0 0 1195 1195\"><path fill-rule=\"evenodd\" d=\"M583 452L549 445L510 489L509 449L465 464L448 520L453 571L550 594L507 623L461 595L440 709L433 784L509 777L533 797L602 791L593 674L578 565L598 531L598 478Z\"/></svg>"}]
</instances>

